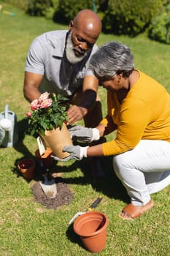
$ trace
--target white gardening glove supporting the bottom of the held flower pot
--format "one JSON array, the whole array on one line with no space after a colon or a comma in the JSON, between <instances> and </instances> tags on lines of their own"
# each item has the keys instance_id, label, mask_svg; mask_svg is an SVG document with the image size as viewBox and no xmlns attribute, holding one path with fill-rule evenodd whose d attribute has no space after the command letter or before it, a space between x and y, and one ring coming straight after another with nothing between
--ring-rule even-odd
<instances>
[{"instance_id":1,"label":"white gardening glove supporting the bottom of the held flower pot","mask_svg":"<svg viewBox=\"0 0 170 256\"><path fill-rule=\"evenodd\" d=\"M55 159L57 161L61 161L61 162L66 162L66 161L69 161L71 159L81 160L83 157L87 157L87 150L88 150L88 146L87 147L65 146L63 148L63 152L70 153L69 157L58 158L58 157L55 157L53 155L51 157L53 157L53 159Z\"/></svg>"}]
</instances>

